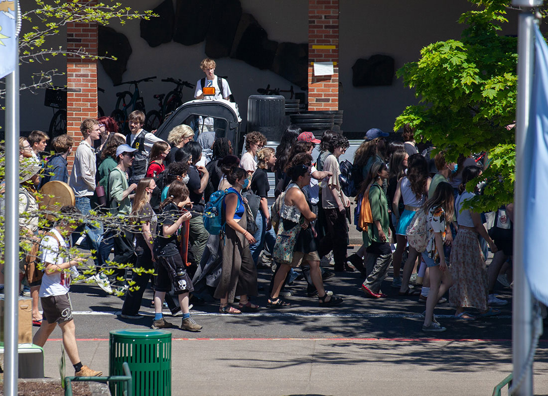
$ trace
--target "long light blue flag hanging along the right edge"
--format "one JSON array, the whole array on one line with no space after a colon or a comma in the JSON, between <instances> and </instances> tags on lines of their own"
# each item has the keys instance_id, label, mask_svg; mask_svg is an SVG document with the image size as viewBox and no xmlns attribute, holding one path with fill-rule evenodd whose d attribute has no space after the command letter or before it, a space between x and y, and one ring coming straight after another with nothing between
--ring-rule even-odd
<instances>
[{"instance_id":1,"label":"long light blue flag hanging along the right edge","mask_svg":"<svg viewBox=\"0 0 548 396\"><path fill-rule=\"evenodd\" d=\"M524 268L535 298L548 305L548 45L535 25L535 74L531 95L529 129L523 157L526 158Z\"/></svg>"}]
</instances>

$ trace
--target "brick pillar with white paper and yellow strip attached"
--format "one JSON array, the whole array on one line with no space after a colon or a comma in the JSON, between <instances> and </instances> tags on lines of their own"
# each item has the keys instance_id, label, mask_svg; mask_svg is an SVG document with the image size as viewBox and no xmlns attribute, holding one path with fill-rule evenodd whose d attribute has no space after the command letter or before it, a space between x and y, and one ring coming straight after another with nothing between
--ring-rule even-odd
<instances>
[{"instance_id":1,"label":"brick pillar with white paper and yellow strip attached","mask_svg":"<svg viewBox=\"0 0 548 396\"><path fill-rule=\"evenodd\" d=\"M332 76L314 76L313 62L334 62ZM339 0L309 0L309 110L339 110Z\"/></svg>"}]
</instances>

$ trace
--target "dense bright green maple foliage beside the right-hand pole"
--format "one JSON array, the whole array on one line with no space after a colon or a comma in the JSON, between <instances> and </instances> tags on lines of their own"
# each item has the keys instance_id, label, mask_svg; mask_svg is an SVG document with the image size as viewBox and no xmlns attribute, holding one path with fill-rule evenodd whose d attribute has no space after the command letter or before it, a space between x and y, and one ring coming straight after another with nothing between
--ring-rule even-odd
<instances>
[{"instance_id":1,"label":"dense bright green maple foliage beside the right-hand pole","mask_svg":"<svg viewBox=\"0 0 548 396\"><path fill-rule=\"evenodd\" d=\"M459 23L468 26L460 41L427 45L419 61L397 71L419 104L408 106L394 129L409 123L450 160L487 151L487 185L472 206L493 210L513 201L515 129L508 125L516 114L517 38L501 33L508 1L470 1L478 10L461 15Z\"/></svg>"}]
</instances>

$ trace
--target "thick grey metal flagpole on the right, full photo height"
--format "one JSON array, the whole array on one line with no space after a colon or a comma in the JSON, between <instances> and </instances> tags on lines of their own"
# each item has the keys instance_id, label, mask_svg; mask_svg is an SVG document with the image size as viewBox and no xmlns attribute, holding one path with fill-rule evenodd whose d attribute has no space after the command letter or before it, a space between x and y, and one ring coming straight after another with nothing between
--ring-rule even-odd
<instances>
[{"instance_id":1,"label":"thick grey metal flagpole on the right, full photo height","mask_svg":"<svg viewBox=\"0 0 548 396\"><path fill-rule=\"evenodd\" d=\"M518 88L516 110L516 181L514 185L514 233L513 239L513 288L512 288L512 364L513 381L523 375L523 381L516 383L512 395L533 394L533 364L527 363L532 348L533 300L524 271L523 236L526 234L525 210L529 177L524 167L524 142L529 128L529 112L535 65L534 53L534 7L543 0L513 0L512 5L522 7L518 17ZM523 372L523 370L526 370Z\"/></svg>"}]
</instances>

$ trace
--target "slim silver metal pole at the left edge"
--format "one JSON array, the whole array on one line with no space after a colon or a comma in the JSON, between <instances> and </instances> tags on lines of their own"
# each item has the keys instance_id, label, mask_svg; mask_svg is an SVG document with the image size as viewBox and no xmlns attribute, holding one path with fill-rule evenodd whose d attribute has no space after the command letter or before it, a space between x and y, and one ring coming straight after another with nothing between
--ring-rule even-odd
<instances>
[{"instance_id":1,"label":"slim silver metal pole at the left edge","mask_svg":"<svg viewBox=\"0 0 548 396\"><path fill-rule=\"evenodd\" d=\"M15 0L15 20L19 19ZM19 341L19 50L15 69L5 77L5 252L4 394L16 395Z\"/></svg>"}]
</instances>

